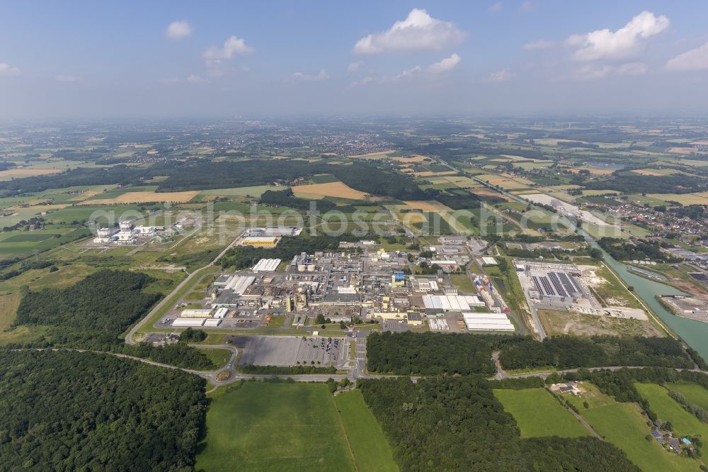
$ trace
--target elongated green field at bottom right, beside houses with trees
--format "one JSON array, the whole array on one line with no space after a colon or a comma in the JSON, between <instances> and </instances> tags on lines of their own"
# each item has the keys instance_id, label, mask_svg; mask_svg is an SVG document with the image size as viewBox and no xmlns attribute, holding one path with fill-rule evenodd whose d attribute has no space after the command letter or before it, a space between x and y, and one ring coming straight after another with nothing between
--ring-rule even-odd
<instances>
[{"instance_id":1,"label":"elongated green field at bottom right, beside houses with trees","mask_svg":"<svg viewBox=\"0 0 708 472\"><path fill-rule=\"evenodd\" d=\"M585 393L566 399L580 410L595 432L605 441L622 449L643 471L696 471L697 463L663 449L661 444L646 440L651 429L639 406L634 403L617 403L612 397L600 393L597 387L583 382ZM588 402L585 408L583 402Z\"/></svg>"}]
</instances>

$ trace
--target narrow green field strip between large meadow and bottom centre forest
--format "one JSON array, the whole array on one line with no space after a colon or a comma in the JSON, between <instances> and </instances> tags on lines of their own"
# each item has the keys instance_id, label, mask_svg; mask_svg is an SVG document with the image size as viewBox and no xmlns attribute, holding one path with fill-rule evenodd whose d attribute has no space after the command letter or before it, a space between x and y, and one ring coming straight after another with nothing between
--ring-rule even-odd
<instances>
[{"instance_id":1,"label":"narrow green field strip between large meadow and bottom centre forest","mask_svg":"<svg viewBox=\"0 0 708 472\"><path fill-rule=\"evenodd\" d=\"M398 471L391 446L372 412L364 403L360 390L341 393L334 398L354 451L354 461L360 471Z\"/></svg>"}]
</instances>

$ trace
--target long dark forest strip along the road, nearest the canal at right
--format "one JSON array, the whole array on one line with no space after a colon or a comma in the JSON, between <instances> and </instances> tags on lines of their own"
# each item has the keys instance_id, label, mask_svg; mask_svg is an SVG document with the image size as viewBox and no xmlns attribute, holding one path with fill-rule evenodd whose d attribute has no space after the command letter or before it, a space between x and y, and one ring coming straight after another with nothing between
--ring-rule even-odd
<instances>
[{"instance_id":1,"label":"long dark forest strip along the road, nearest the canal at right","mask_svg":"<svg viewBox=\"0 0 708 472\"><path fill-rule=\"evenodd\" d=\"M501 347L504 369L554 367L658 366L692 368L681 343L670 337L518 337Z\"/></svg>"}]
</instances>

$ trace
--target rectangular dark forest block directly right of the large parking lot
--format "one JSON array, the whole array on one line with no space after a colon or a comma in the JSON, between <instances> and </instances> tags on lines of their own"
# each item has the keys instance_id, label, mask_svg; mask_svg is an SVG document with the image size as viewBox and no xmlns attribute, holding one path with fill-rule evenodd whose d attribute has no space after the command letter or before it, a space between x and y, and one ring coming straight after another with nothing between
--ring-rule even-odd
<instances>
[{"instance_id":1,"label":"rectangular dark forest block directly right of the large parking lot","mask_svg":"<svg viewBox=\"0 0 708 472\"><path fill-rule=\"evenodd\" d=\"M491 376L493 343L484 336L439 332L382 332L367 337L367 368L378 373Z\"/></svg>"}]
</instances>

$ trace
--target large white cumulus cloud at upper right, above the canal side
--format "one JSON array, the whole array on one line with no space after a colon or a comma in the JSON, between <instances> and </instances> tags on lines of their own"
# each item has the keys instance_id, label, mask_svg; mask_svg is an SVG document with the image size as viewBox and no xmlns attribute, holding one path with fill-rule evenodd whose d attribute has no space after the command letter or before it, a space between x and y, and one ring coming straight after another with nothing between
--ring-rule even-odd
<instances>
[{"instance_id":1,"label":"large white cumulus cloud at upper right, above the canal side","mask_svg":"<svg viewBox=\"0 0 708 472\"><path fill-rule=\"evenodd\" d=\"M576 60L622 59L632 55L643 40L658 35L668 26L669 19L666 16L642 11L614 33L607 28L590 31L582 35L572 35L566 43L578 47L573 54Z\"/></svg>"}]
</instances>

